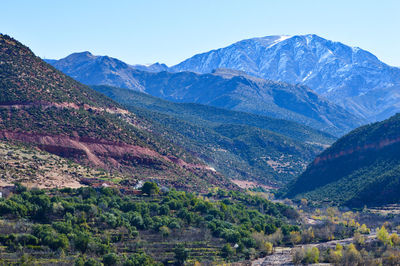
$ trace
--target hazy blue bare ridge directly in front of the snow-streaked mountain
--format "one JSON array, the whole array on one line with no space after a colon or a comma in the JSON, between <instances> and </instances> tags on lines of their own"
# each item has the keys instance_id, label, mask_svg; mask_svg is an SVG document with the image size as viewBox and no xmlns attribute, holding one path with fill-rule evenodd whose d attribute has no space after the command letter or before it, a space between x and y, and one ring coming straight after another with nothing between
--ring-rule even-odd
<instances>
[{"instance_id":1,"label":"hazy blue bare ridge directly in front of the snow-streaked mountain","mask_svg":"<svg viewBox=\"0 0 400 266\"><path fill-rule=\"evenodd\" d=\"M200 103L292 120L341 135L360 119L319 97L305 86L294 86L218 69L211 74L140 72L145 92L174 102Z\"/></svg>"}]
</instances>

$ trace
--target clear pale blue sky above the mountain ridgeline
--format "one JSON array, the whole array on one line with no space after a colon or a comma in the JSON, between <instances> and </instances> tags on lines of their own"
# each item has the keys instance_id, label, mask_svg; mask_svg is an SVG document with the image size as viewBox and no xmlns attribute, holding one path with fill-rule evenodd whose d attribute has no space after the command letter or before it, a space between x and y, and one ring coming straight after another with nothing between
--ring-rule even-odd
<instances>
[{"instance_id":1,"label":"clear pale blue sky above the mountain ridgeline","mask_svg":"<svg viewBox=\"0 0 400 266\"><path fill-rule=\"evenodd\" d=\"M1 33L46 58L173 65L245 38L315 33L400 66L399 0L6 0L0 14Z\"/></svg>"}]
</instances>

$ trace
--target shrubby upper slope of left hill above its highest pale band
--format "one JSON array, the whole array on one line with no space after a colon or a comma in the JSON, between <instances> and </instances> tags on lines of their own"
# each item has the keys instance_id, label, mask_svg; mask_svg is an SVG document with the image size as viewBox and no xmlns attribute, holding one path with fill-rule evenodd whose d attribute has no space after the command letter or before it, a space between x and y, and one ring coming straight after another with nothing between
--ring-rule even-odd
<instances>
[{"instance_id":1,"label":"shrubby upper slope of left hill above its highest pale band","mask_svg":"<svg viewBox=\"0 0 400 266\"><path fill-rule=\"evenodd\" d=\"M0 103L71 102L95 107L116 103L48 65L32 51L0 34Z\"/></svg>"}]
</instances>

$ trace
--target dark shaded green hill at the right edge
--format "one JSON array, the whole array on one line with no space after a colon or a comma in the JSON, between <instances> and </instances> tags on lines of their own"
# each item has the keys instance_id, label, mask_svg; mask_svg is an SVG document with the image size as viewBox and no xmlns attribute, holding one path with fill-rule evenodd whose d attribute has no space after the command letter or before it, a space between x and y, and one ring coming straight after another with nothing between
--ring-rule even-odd
<instances>
[{"instance_id":1,"label":"dark shaded green hill at the right edge","mask_svg":"<svg viewBox=\"0 0 400 266\"><path fill-rule=\"evenodd\" d=\"M400 114L355 129L317 156L285 196L354 207L400 202Z\"/></svg>"}]
</instances>

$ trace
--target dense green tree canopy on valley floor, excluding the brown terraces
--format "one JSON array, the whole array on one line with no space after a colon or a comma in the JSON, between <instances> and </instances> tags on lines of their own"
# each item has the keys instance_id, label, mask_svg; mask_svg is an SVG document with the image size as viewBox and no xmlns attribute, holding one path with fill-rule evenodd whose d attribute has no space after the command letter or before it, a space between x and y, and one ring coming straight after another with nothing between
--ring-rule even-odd
<instances>
[{"instance_id":1,"label":"dense green tree canopy on valley floor, excluding the brown terraces","mask_svg":"<svg viewBox=\"0 0 400 266\"><path fill-rule=\"evenodd\" d=\"M112 188L46 192L19 187L11 197L0 199L0 217L12 223L26 219L31 225L24 233L3 231L0 243L10 251L47 247L49 252L84 254L113 265L147 259L137 254L140 248L130 250L134 259L122 258L118 243L133 241L142 232L158 232L165 238L193 227L222 239L226 245L217 254L237 260L271 252L270 243L256 241L254 233L268 236L279 230L288 240L290 232L299 230L288 223L297 218L292 208L261 197L221 190L204 196L176 190L158 194L154 183L146 183L143 191L143 196L130 196ZM175 259L183 263L189 253L177 246Z\"/></svg>"}]
</instances>

